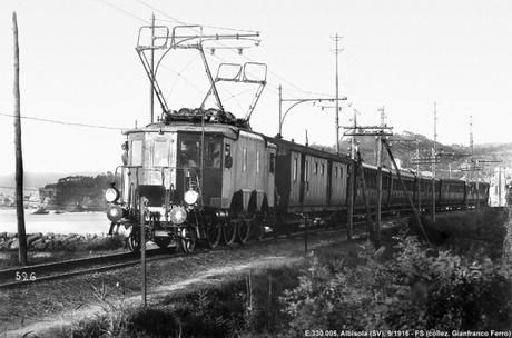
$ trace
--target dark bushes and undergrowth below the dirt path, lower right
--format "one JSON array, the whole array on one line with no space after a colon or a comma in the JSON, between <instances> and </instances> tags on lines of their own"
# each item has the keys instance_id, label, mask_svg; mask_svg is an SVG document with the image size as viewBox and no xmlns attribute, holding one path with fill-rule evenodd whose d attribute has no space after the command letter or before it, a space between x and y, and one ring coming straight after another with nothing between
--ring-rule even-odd
<instances>
[{"instance_id":1,"label":"dark bushes and undergrowth below the dirt path, lower right","mask_svg":"<svg viewBox=\"0 0 512 338\"><path fill-rule=\"evenodd\" d=\"M512 325L512 267L502 259L505 252L498 257L492 249L491 242L501 245L505 236L502 216L494 219L489 231L502 236L471 246L451 241L434 247L402 233L387 238L386 245L395 243L387 255L376 255L370 242L327 247L298 266L168 296L147 310L111 306L51 337L304 337L304 329L312 328L505 330ZM98 294L105 300L108 292Z\"/></svg>"}]
</instances>

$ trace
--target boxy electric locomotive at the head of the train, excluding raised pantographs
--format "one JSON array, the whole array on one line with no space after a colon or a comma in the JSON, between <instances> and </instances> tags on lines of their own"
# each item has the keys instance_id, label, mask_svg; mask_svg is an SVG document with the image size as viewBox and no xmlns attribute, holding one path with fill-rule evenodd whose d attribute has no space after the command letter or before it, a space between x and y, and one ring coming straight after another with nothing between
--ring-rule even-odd
<instances>
[{"instance_id":1,"label":"boxy electric locomotive at the head of the train, excluding raised pantographs","mask_svg":"<svg viewBox=\"0 0 512 338\"><path fill-rule=\"evenodd\" d=\"M274 206L276 146L235 125L214 122L219 115L225 113L181 110L179 117L125 131L127 163L106 192L107 216L134 228L134 249L140 243L140 197L148 239L160 247L177 240L193 251L197 240L215 247L220 240L263 237L262 220Z\"/></svg>"}]
</instances>

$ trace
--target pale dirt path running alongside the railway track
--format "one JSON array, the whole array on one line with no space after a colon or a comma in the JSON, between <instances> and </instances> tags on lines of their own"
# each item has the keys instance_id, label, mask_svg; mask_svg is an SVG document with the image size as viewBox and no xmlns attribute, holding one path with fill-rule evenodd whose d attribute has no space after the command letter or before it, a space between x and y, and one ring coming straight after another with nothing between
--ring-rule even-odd
<instances>
[{"instance_id":1,"label":"pale dirt path running alongside the railway track","mask_svg":"<svg viewBox=\"0 0 512 338\"><path fill-rule=\"evenodd\" d=\"M333 243L339 243L343 250L347 245L345 231L311 236L308 248L314 250ZM171 292L205 284L216 285L248 270L291 265L303 257L303 238L288 238L236 250L149 262L148 305L157 304ZM8 304L7 308L0 309L0 332L4 331L0 337L21 337L29 331L41 335L48 328L96 316L105 311L108 304L139 305L139 268L35 284L2 292L0 301Z\"/></svg>"}]
</instances>

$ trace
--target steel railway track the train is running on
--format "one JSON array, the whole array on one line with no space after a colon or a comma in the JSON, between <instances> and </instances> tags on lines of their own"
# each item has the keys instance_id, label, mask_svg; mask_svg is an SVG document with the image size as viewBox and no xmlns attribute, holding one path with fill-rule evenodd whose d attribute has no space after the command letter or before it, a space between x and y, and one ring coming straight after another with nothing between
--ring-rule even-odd
<instances>
[{"instance_id":1,"label":"steel railway track the train is running on","mask_svg":"<svg viewBox=\"0 0 512 338\"><path fill-rule=\"evenodd\" d=\"M390 221L392 219L405 219L406 217L396 218L390 217L383 219L383 221ZM364 225L366 221L356 221L354 222L354 233L353 237L356 238L361 235L364 235ZM308 233L328 233L328 232L339 232L342 226L338 227L311 227L308 228ZM356 230L357 229L357 230ZM280 235L280 236L269 236L264 238L259 242L268 242L276 240L284 240L288 238L303 237L305 233L304 227L299 231ZM244 247L250 247L258 245L258 241L253 241L245 243ZM218 251L218 250L232 250L234 247L217 247L216 249L197 249L195 254L207 252L207 251ZM235 247L236 248L236 247ZM183 252L171 252L171 248L166 249L149 249L146 251L147 261L155 261L160 259L171 259L177 257L186 256ZM194 255L194 254L193 254ZM73 276L87 275L104 272L109 270L121 269L125 267L130 267L140 264L139 255L134 252L122 252L114 255L104 255L91 258L80 258L72 260L65 260L59 262L48 262L40 265L32 265L26 267L17 267L0 270L0 289L17 288L22 286L28 286L35 282L63 279Z\"/></svg>"}]
</instances>

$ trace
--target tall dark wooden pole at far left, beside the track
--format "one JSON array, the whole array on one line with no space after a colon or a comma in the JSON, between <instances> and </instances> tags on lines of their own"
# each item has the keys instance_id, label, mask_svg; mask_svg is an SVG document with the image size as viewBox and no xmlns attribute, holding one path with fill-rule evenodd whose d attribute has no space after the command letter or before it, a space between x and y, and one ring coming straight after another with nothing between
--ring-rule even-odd
<instances>
[{"instance_id":1,"label":"tall dark wooden pole at far left, beside the track","mask_svg":"<svg viewBox=\"0 0 512 338\"><path fill-rule=\"evenodd\" d=\"M18 260L27 264L27 232L24 229L23 207L23 155L21 151L21 112L20 112L20 49L18 44L18 20L12 13L14 34L14 148L16 148L16 215L18 221Z\"/></svg>"}]
</instances>

